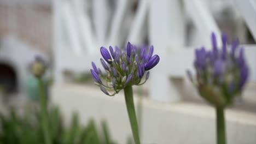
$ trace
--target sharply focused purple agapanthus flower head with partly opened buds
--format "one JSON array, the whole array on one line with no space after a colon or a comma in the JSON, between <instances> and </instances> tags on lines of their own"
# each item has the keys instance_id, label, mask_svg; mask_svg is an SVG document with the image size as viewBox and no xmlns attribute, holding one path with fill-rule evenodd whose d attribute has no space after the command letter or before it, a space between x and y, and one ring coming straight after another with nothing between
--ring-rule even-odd
<instances>
[{"instance_id":1,"label":"sharply focused purple agapanthus flower head with partly opened buds","mask_svg":"<svg viewBox=\"0 0 256 144\"><path fill-rule=\"evenodd\" d=\"M128 43L124 50L115 46L100 49L103 58L100 59L106 73L102 73L92 62L91 74L101 91L114 95L126 86L142 85L149 78L150 69L159 63L159 56L153 55L154 47L137 47ZM147 71L147 73L146 73Z\"/></svg>"}]
</instances>

